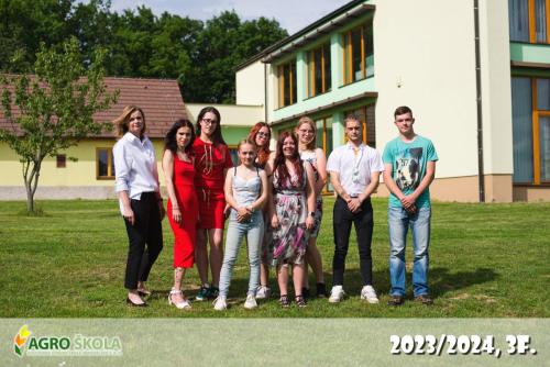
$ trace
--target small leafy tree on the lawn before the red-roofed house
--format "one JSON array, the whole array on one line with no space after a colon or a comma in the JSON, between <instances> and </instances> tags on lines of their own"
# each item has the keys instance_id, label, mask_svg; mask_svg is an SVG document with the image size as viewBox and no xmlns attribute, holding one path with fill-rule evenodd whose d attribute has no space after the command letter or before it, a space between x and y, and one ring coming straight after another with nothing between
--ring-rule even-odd
<instances>
[{"instance_id":1,"label":"small leafy tree on the lawn before the red-roofed house","mask_svg":"<svg viewBox=\"0 0 550 367\"><path fill-rule=\"evenodd\" d=\"M98 49L85 68L76 38L55 48L41 44L34 76L3 75L0 80L3 114L11 124L0 129L0 142L22 163L29 214L35 213L43 159L111 127L94 121L96 112L107 110L118 98L118 91L106 90L103 59L105 51Z\"/></svg>"}]
</instances>

